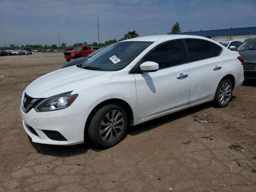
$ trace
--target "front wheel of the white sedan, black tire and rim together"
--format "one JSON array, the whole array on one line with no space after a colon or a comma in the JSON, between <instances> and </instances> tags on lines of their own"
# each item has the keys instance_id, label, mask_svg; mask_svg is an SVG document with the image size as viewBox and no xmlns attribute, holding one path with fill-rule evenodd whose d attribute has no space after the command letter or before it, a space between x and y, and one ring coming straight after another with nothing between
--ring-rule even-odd
<instances>
[{"instance_id":1,"label":"front wheel of the white sedan, black tire and rim together","mask_svg":"<svg viewBox=\"0 0 256 192\"><path fill-rule=\"evenodd\" d=\"M109 148L122 139L127 125L126 112L117 104L107 104L98 109L92 117L88 137L96 146Z\"/></svg>"}]
</instances>

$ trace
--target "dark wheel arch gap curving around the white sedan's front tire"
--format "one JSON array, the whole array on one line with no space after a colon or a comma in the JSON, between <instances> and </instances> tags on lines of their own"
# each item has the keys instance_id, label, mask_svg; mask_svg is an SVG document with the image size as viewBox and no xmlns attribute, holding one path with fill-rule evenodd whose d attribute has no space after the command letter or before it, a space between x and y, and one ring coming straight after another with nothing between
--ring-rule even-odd
<instances>
[{"instance_id":1,"label":"dark wheel arch gap curving around the white sedan's front tire","mask_svg":"<svg viewBox=\"0 0 256 192\"><path fill-rule=\"evenodd\" d=\"M118 99L118 98L112 98L112 99L104 100L104 101L100 102L99 104L97 104L92 109L88 118L86 119L86 123L85 123L85 127L84 127L84 138L86 138L88 136L88 127L89 127L90 121L91 121L92 117L94 116L94 114L96 113L96 111L99 108L101 108L102 106L104 106L106 104L110 104L110 103L111 104L118 104L119 106L123 107L124 110L127 113L127 116L128 116L128 125L133 125L134 114L133 114L131 106L126 101L124 101L122 99Z\"/></svg>"}]
</instances>

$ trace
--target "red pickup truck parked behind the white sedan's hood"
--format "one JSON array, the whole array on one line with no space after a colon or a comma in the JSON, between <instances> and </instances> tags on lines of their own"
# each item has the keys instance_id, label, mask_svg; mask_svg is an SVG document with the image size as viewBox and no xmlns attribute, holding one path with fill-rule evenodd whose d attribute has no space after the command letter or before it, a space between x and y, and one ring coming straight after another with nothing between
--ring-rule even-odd
<instances>
[{"instance_id":1,"label":"red pickup truck parked behind the white sedan's hood","mask_svg":"<svg viewBox=\"0 0 256 192\"><path fill-rule=\"evenodd\" d=\"M64 57L67 61L70 61L71 59L87 56L88 54L94 52L97 49L98 49L97 47L76 46L71 51L65 51Z\"/></svg>"}]
</instances>

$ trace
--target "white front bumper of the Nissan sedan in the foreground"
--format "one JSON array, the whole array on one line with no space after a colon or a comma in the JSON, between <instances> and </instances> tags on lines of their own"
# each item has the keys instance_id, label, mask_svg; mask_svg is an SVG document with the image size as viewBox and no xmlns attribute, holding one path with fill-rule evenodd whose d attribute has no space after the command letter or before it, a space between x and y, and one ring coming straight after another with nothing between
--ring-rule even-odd
<instances>
[{"instance_id":1,"label":"white front bumper of the Nissan sedan in the foreground","mask_svg":"<svg viewBox=\"0 0 256 192\"><path fill-rule=\"evenodd\" d=\"M21 110L22 124L26 133L33 142L52 145L73 145L84 142L84 127L89 115L88 108L68 107L51 112L36 112L31 109L27 114ZM31 129L32 127L36 134ZM57 131L66 140L52 140L44 132L45 130Z\"/></svg>"}]
</instances>

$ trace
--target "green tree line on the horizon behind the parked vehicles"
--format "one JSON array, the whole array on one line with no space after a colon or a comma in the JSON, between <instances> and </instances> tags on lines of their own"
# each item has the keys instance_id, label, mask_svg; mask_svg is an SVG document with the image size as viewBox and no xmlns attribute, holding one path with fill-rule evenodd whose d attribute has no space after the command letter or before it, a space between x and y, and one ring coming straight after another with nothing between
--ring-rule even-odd
<instances>
[{"instance_id":1,"label":"green tree line on the horizon behind the parked vehicles","mask_svg":"<svg viewBox=\"0 0 256 192\"><path fill-rule=\"evenodd\" d=\"M202 29L201 29L202 31ZM174 33L180 33L181 32L181 28L180 28L180 24L178 22L176 22L172 29L170 30L170 32L168 32L167 34L174 34ZM119 41L122 41L122 40L126 40L126 39L130 39L130 38L136 38L138 37L139 34L136 33L136 31L129 31L127 34L124 34L124 37L119 39L119 40L116 40L116 39L110 39L108 41L105 41L105 43L100 43L98 44L97 42L93 42L92 44L88 44L86 41L84 42L77 42L73 45L69 45L67 46L67 44L65 42L62 42L62 44L60 45L60 47L58 47L56 44L53 44L53 45L47 45L45 44L44 46L43 45L39 45L39 44L36 44L36 45L32 45L32 44L27 44L27 45L21 45L21 46L18 46L18 45L14 45L14 44L10 44L9 46L2 46L0 47L0 50L26 50L26 49L30 49L30 50L56 50L56 49L72 49L76 46L83 46L83 45L87 45L87 46L93 46L93 47L103 47L103 46L106 46L106 45L109 45L109 44L114 44L116 42L119 42Z\"/></svg>"}]
</instances>

